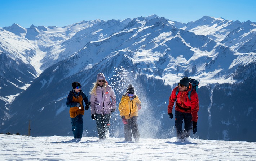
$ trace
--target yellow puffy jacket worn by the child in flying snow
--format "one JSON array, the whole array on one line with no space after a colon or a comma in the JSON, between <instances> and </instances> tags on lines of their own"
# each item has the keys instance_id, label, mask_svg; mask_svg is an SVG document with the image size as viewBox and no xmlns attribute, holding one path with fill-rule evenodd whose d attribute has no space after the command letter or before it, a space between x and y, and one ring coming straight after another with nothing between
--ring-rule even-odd
<instances>
[{"instance_id":1,"label":"yellow puffy jacket worn by the child in flying snow","mask_svg":"<svg viewBox=\"0 0 256 161\"><path fill-rule=\"evenodd\" d=\"M127 95L123 95L118 107L120 116L124 116L125 119L138 116L138 106L141 106L141 101L138 96L135 95L135 98L130 100Z\"/></svg>"}]
</instances>

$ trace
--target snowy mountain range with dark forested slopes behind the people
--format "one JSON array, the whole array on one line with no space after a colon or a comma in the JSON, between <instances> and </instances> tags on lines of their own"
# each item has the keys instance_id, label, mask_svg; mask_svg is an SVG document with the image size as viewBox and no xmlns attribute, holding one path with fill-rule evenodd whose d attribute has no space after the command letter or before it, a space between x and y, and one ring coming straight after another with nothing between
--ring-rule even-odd
<instances>
[{"instance_id":1,"label":"snowy mountain range with dark forested slopes behind the people","mask_svg":"<svg viewBox=\"0 0 256 161\"><path fill-rule=\"evenodd\" d=\"M198 132L191 137L256 141L255 39L255 22L207 16L187 24L152 15L0 28L0 132L27 134L31 120L31 135L72 135L66 107L71 84L80 82L89 96L102 72L118 103L134 84L145 138L173 137L168 99L189 76L200 81ZM84 130L97 135L89 111ZM123 135L118 111L110 132Z\"/></svg>"}]
</instances>

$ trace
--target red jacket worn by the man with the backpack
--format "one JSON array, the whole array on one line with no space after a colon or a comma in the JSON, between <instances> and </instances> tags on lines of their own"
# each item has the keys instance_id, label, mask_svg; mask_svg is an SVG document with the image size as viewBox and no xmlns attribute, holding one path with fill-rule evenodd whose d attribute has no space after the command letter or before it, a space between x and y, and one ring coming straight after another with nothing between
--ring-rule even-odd
<instances>
[{"instance_id":1,"label":"red jacket worn by the man with the backpack","mask_svg":"<svg viewBox=\"0 0 256 161\"><path fill-rule=\"evenodd\" d=\"M176 96L176 92L177 92L178 86L172 90L171 96L169 98L168 113L172 113L172 108L177 98L177 101L175 103L175 110L179 112L191 113L192 121L197 122L199 100L198 100L197 92L195 92L195 90L191 92L191 95L190 95L191 100L189 100L188 92L191 91L191 87L192 86L189 83L189 88L187 89L187 91L182 91L182 92L179 91L177 96Z\"/></svg>"}]
</instances>

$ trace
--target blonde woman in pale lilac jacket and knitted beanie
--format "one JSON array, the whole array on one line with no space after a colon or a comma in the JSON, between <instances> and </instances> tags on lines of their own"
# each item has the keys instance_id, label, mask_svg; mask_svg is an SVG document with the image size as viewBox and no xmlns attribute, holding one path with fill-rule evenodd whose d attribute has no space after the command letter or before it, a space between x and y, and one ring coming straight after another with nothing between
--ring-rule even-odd
<instances>
[{"instance_id":1,"label":"blonde woman in pale lilac jacket and knitted beanie","mask_svg":"<svg viewBox=\"0 0 256 161\"><path fill-rule=\"evenodd\" d=\"M110 127L111 113L116 110L116 96L103 73L97 75L90 95L92 119L96 120L99 139L105 140L105 133Z\"/></svg>"}]
</instances>

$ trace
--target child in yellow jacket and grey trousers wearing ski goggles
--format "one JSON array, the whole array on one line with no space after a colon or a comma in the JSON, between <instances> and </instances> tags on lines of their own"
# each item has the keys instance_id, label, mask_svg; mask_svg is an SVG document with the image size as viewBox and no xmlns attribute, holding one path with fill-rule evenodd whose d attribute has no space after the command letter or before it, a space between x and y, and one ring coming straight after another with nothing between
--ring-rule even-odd
<instances>
[{"instance_id":1,"label":"child in yellow jacket and grey trousers wearing ski goggles","mask_svg":"<svg viewBox=\"0 0 256 161\"><path fill-rule=\"evenodd\" d=\"M135 90L132 84L127 87L126 93L122 96L119 103L119 112L124 123L125 141L132 141L132 134L136 142L140 139L138 132L138 110L141 109L141 101L135 95ZM132 129L132 132L131 132Z\"/></svg>"}]
</instances>

